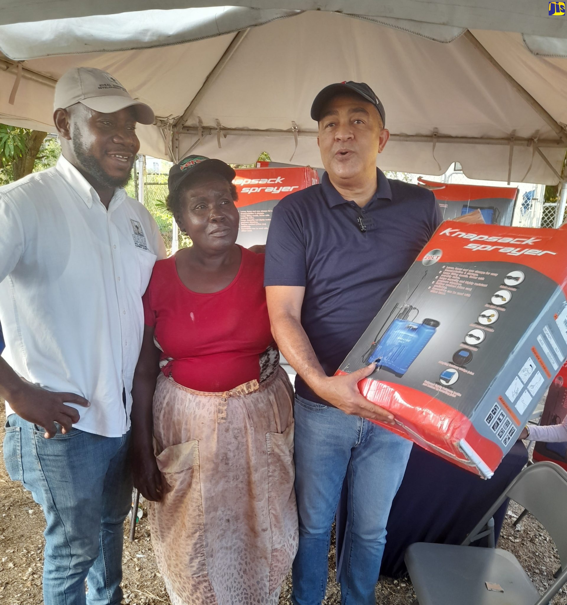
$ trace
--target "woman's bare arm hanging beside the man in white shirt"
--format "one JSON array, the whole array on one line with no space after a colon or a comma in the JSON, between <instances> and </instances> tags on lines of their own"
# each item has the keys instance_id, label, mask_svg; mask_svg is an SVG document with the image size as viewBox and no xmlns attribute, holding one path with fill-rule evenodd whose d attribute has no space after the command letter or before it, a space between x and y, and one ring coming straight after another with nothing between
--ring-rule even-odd
<instances>
[{"instance_id":1,"label":"woman's bare arm hanging beside the man in white shirt","mask_svg":"<svg viewBox=\"0 0 567 605\"><path fill-rule=\"evenodd\" d=\"M154 344L154 328L144 325L144 338L132 384L132 472L134 486L144 498L161 500L163 477L154 456L152 402L160 373L160 350Z\"/></svg>"}]
</instances>

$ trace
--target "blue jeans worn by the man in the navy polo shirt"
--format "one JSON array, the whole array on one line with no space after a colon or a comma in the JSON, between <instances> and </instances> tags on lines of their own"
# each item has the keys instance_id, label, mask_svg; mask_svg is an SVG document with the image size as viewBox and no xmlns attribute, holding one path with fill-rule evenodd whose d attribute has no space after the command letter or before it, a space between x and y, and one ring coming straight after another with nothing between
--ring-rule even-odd
<instances>
[{"instance_id":1,"label":"blue jeans worn by the man in the navy polo shirt","mask_svg":"<svg viewBox=\"0 0 567 605\"><path fill-rule=\"evenodd\" d=\"M342 605L375 605L386 522L412 443L358 416L296 396L296 497L299 550L293 562L294 605L325 597L331 527L343 480L348 514L337 563Z\"/></svg>"}]
</instances>

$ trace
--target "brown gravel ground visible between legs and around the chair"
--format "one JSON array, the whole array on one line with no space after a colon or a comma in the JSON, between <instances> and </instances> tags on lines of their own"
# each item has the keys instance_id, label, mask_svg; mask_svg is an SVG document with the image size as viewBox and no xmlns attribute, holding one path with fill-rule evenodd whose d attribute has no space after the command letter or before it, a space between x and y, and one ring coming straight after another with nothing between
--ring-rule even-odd
<instances>
[{"instance_id":1,"label":"brown gravel ground visible between legs and around the chair","mask_svg":"<svg viewBox=\"0 0 567 605\"><path fill-rule=\"evenodd\" d=\"M2 426L3 408L2 405ZM559 567L557 549L549 534L530 515L522 520L518 528L514 528L513 521L521 511L518 505L511 504L498 546L516 555L531 580L543 592ZM44 516L31 495L19 483L10 481L3 463L0 464L0 515L0 603L40 605ZM155 564L146 517L138 523L134 542L128 540L128 523L125 523L123 565L125 603L160 605L170 602ZM332 547L325 605L340 605L340 590L334 581L334 565ZM288 577L282 587L280 605L291 605L290 592L291 577ZM410 605L414 598L409 580L380 578L376 589L378 605ZM563 589L551 603L567 605L567 589Z\"/></svg>"}]
</instances>

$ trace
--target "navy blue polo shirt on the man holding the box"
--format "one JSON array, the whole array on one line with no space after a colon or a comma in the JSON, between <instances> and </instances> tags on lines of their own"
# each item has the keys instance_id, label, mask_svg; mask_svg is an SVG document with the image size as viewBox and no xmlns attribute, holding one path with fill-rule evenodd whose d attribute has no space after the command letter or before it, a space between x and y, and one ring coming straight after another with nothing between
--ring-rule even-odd
<instances>
[{"instance_id":1,"label":"navy blue polo shirt on the man holding the box","mask_svg":"<svg viewBox=\"0 0 567 605\"><path fill-rule=\"evenodd\" d=\"M264 285L305 286L301 322L328 376L441 223L431 191L378 169L377 175L377 191L364 208L345 200L325 173L320 185L283 198L271 218ZM296 392L326 403L299 376Z\"/></svg>"}]
</instances>

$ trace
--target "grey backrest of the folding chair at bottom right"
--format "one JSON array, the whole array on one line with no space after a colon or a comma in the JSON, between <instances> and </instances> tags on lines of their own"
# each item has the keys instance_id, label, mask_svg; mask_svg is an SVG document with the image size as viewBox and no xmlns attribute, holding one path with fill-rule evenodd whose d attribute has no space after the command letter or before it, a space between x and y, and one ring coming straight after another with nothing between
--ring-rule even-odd
<instances>
[{"instance_id":1,"label":"grey backrest of the folding chair at bottom right","mask_svg":"<svg viewBox=\"0 0 567 605\"><path fill-rule=\"evenodd\" d=\"M506 493L545 527L567 569L567 471L553 462L537 462L523 469Z\"/></svg>"}]
</instances>

